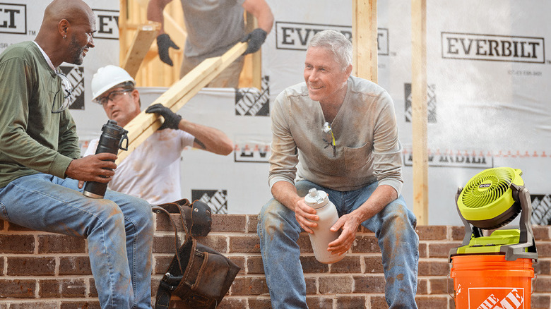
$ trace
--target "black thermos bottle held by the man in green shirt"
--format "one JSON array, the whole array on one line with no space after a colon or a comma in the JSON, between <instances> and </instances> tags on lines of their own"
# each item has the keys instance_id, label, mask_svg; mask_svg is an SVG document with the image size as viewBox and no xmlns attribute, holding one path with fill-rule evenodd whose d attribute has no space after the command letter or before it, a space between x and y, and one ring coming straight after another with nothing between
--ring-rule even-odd
<instances>
[{"instance_id":1,"label":"black thermos bottle held by the man in green shirt","mask_svg":"<svg viewBox=\"0 0 551 309\"><path fill-rule=\"evenodd\" d=\"M117 126L117 121L108 120L102 126L102 135L100 136L100 142L97 143L95 154L102 152L117 154L119 149L128 150L128 135L126 133L128 131L124 130L121 126ZM122 146L124 140L126 140L125 147ZM103 198L105 190L107 190L107 183L87 181L84 185L83 194L88 196L88 198Z\"/></svg>"}]
</instances>

